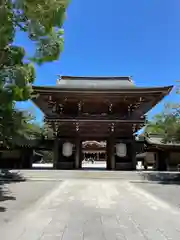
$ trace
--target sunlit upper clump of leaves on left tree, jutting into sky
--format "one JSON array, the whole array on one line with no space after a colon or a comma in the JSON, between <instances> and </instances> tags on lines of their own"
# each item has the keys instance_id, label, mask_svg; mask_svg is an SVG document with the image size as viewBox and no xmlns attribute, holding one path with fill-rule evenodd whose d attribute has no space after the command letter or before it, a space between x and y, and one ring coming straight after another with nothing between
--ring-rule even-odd
<instances>
[{"instance_id":1,"label":"sunlit upper clump of leaves on left tree, jutting into sky","mask_svg":"<svg viewBox=\"0 0 180 240\"><path fill-rule=\"evenodd\" d=\"M14 23L36 44L30 60L42 64L58 59L63 50L62 25L68 3L68 0L15 0Z\"/></svg>"}]
</instances>

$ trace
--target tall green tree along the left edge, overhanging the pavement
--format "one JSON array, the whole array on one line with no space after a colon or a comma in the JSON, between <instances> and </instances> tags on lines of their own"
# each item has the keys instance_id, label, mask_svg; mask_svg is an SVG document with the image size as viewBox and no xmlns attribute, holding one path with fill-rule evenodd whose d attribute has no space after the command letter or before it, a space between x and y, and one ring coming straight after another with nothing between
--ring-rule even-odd
<instances>
[{"instance_id":1,"label":"tall green tree along the left edge, overhanging the pavement","mask_svg":"<svg viewBox=\"0 0 180 240\"><path fill-rule=\"evenodd\" d=\"M0 136L3 140L11 137L14 121L23 122L23 114L15 110L15 102L31 98L35 80L33 63L54 61L63 50L62 25L67 6L68 0L0 2ZM35 53L27 60L23 46L13 44L16 31L25 32L35 44Z\"/></svg>"}]
</instances>

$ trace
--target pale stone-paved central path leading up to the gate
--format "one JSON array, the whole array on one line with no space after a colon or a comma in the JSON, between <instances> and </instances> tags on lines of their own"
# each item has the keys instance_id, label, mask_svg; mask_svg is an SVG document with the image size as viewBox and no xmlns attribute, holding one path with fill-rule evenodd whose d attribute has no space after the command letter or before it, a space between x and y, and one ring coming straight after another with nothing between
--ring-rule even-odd
<instances>
[{"instance_id":1,"label":"pale stone-paved central path leading up to the gate","mask_svg":"<svg viewBox=\"0 0 180 240\"><path fill-rule=\"evenodd\" d=\"M179 240L180 211L133 183L67 179L11 223L6 240Z\"/></svg>"}]
</instances>

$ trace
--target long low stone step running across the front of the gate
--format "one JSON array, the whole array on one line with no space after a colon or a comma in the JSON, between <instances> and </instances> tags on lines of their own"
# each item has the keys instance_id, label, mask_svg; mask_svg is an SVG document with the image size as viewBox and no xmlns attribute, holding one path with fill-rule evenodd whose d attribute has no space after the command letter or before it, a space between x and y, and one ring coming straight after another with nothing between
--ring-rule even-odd
<instances>
[{"instance_id":1,"label":"long low stone step running across the front of the gate","mask_svg":"<svg viewBox=\"0 0 180 240\"><path fill-rule=\"evenodd\" d=\"M179 181L179 172L99 170L13 170L27 180L119 179L128 181Z\"/></svg>"}]
</instances>

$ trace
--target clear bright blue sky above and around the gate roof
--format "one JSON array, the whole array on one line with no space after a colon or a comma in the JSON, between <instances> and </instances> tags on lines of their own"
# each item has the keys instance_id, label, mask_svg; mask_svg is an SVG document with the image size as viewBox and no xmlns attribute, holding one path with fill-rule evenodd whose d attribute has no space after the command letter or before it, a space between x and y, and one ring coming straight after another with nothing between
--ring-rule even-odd
<instances>
[{"instance_id":1,"label":"clear bright blue sky above and around the gate roof","mask_svg":"<svg viewBox=\"0 0 180 240\"><path fill-rule=\"evenodd\" d=\"M137 86L174 85L180 79L179 0L72 0L64 29L64 52L58 61L36 67L35 85L54 85L58 74L127 75ZM15 42L32 53L33 44L22 33ZM165 101L180 97L172 93ZM18 106L41 121L33 104Z\"/></svg>"}]
</instances>

